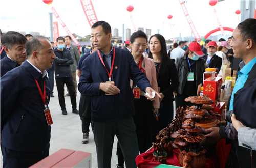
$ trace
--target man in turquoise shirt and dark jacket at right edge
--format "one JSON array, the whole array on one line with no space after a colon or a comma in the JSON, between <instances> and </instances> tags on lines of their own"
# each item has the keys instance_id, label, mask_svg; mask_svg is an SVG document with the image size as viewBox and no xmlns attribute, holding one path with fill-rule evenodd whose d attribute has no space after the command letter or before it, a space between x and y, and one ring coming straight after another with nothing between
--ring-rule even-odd
<instances>
[{"instance_id":1,"label":"man in turquoise shirt and dark jacket at right edge","mask_svg":"<svg viewBox=\"0 0 256 168\"><path fill-rule=\"evenodd\" d=\"M238 97L244 94L242 88L249 86L249 81L256 79L256 19L246 19L245 21L239 23L239 25L234 29L232 34L232 40L230 42L230 47L233 49L234 58L242 59L243 61L239 64L239 70L236 76L236 84L234 85L231 96L229 97L227 103L227 111L234 109L234 114L236 114L237 119L240 120L240 116L244 119L251 121L250 116L255 115L255 110L246 110L248 106L246 103L252 103L251 99L247 99L246 103L241 103L241 101L236 101ZM253 83L255 85L255 83ZM253 90L251 91L252 93ZM255 93L253 95L255 98ZM238 115L236 113L236 106L245 107L243 113ZM254 121L255 122L255 121ZM256 151L251 151L244 147L238 145L238 132L234 129L231 123L227 126L220 126L220 128L209 128L206 130L210 134L206 135L207 144L212 144L218 142L221 138L232 140L232 151L233 151L233 167L252 167L256 165ZM227 141L227 140L226 140Z\"/></svg>"}]
</instances>

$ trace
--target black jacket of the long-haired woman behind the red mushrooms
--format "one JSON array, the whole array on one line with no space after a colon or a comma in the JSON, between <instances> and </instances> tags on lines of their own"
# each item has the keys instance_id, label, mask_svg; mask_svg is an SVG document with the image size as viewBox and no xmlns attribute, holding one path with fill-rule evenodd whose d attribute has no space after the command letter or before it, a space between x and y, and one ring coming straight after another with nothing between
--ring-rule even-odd
<instances>
[{"instance_id":1,"label":"black jacket of the long-haired woman behind the red mushrooms","mask_svg":"<svg viewBox=\"0 0 256 168\"><path fill-rule=\"evenodd\" d=\"M168 59L165 64L161 65L158 73L158 87L160 87L160 93L164 95L162 102L173 102L175 100L173 92L178 88L180 83L175 60Z\"/></svg>"}]
</instances>

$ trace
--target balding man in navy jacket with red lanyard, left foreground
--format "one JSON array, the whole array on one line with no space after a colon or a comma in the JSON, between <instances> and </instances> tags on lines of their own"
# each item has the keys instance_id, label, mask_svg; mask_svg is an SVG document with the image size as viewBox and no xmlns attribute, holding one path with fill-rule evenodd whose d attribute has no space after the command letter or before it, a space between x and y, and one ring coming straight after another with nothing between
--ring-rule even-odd
<instances>
[{"instance_id":1,"label":"balding man in navy jacket with red lanyard, left foreground","mask_svg":"<svg viewBox=\"0 0 256 168\"><path fill-rule=\"evenodd\" d=\"M30 167L49 156L51 122L45 110L50 82L46 69L52 67L55 55L45 37L30 39L26 51L28 59L22 66L1 77L1 143L3 167L8 168Z\"/></svg>"}]
</instances>

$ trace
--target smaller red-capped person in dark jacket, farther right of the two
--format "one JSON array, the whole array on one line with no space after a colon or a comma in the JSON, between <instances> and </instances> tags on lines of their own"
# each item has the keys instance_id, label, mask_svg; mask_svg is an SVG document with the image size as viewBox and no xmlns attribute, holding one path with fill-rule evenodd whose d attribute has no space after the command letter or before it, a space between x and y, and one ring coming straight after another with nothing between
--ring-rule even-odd
<instances>
[{"instance_id":1,"label":"smaller red-capped person in dark jacket, farther right of the two","mask_svg":"<svg viewBox=\"0 0 256 168\"><path fill-rule=\"evenodd\" d=\"M205 60L205 68L217 68L216 72L219 73L222 65L222 59L216 53L217 44L215 41L208 43L207 54L203 57Z\"/></svg>"}]
</instances>

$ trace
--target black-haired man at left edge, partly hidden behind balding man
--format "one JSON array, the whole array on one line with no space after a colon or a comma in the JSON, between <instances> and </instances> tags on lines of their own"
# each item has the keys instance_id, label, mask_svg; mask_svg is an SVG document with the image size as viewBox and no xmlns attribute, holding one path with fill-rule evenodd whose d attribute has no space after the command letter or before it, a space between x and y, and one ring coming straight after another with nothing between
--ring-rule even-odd
<instances>
[{"instance_id":1,"label":"black-haired man at left edge, partly hidden behind balding man","mask_svg":"<svg viewBox=\"0 0 256 168\"><path fill-rule=\"evenodd\" d=\"M18 32L10 31L3 35L1 42L6 52L5 57L0 61L2 77L26 60L25 45L27 38Z\"/></svg>"}]
</instances>

